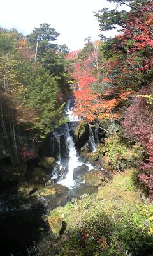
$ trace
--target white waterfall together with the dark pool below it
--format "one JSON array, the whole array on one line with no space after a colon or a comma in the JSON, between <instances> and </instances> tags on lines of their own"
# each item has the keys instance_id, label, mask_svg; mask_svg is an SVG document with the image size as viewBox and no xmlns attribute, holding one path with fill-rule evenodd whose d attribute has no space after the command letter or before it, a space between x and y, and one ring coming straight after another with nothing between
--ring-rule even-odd
<instances>
[{"instance_id":1,"label":"white waterfall together with the dark pool below it","mask_svg":"<svg viewBox=\"0 0 153 256\"><path fill-rule=\"evenodd\" d=\"M80 122L78 116L73 116L73 97L68 100L65 108L69 118L68 124L62 125L50 138L50 155L56 154L57 163L52 172L55 195L32 198L19 195L17 188L2 189L0 196L0 255L29 255L27 248L38 243L47 236L48 214L52 209L64 206L72 198L80 198L84 193L91 195L97 188L84 186L84 180L74 177L73 170L86 166L87 172L95 168L82 159L73 140L71 125ZM91 152L96 151L94 133L89 124L89 145Z\"/></svg>"}]
</instances>

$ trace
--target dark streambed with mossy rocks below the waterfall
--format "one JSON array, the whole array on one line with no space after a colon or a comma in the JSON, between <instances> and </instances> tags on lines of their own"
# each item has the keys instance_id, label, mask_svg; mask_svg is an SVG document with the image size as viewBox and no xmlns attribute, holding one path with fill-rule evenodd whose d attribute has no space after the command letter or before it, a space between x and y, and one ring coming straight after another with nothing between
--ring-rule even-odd
<instances>
[{"instance_id":1,"label":"dark streambed with mossy rocks below the waterfall","mask_svg":"<svg viewBox=\"0 0 153 256\"><path fill-rule=\"evenodd\" d=\"M17 186L1 187L0 239L3 256L28 255L30 246L41 243L45 237L54 237L55 232L62 232L63 227L55 231L54 225L58 221L49 221L50 211L83 194L95 193L99 184L106 182L101 171L88 172L84 164L75 169L77 183L73 188L54 184L50 180L46 182L49 176L41 168L35 168L32 173L29 179L19 182Z\"/></svg>"}]
</instances>

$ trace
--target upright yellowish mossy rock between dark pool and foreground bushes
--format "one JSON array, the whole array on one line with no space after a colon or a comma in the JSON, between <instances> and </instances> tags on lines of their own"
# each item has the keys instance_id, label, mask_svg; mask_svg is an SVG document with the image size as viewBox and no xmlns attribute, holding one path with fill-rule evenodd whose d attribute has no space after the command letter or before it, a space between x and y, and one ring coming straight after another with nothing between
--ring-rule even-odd
<instances>
[{"instance_id":1,"label":"upright yellowish mossy rock between dark pool and foreground bushes","mask_svg":"<svg viewBox=\"0 0 153 256\"><path fill-rule=\"evenodd\" d=\"M53 234L57 236L62 228L62 219L57 215L49 216L48 223L52 229Z\"/></svg>"}]
</instances>

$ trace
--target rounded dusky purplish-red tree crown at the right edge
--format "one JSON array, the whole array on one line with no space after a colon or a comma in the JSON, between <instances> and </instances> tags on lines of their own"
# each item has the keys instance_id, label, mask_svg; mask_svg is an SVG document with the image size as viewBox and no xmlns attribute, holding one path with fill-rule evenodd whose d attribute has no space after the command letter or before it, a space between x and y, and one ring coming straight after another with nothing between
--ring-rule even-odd
<instances>
[{"instance_id":1,"label":"rounded dusky purplish-red tree crown at the right edge","mask_svg":"<svg viewBox=\"0 0 153 256\"><path fill-rule=\"evenodd\" d=\"M149 95L151 92L152 87L142 88L139 95ZM135 97L131 106L124 111L122 126L126 138L136 141L140 145L146 145L152 133L152 125L151 104L147 104L147 99L143 97Z\"/></svg>"}]
</instances>

